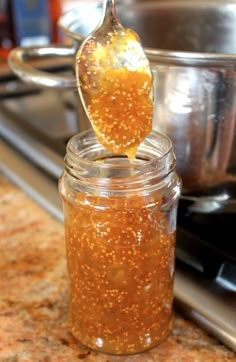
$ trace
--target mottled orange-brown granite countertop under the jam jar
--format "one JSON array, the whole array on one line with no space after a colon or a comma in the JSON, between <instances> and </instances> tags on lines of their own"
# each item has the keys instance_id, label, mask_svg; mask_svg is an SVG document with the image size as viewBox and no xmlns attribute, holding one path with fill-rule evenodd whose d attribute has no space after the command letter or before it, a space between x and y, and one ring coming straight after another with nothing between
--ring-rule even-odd
<instances>
[{"instance_id":1,"label":"mottled orange-brown granite countertop under the jam jar","mask_svg":"<svg viewBox=\"0 0 236 362\"><path fill-rule=\"evenodd\" d=\"M85 349L67 325L63 225L0 178L0 362L223 362L236 355L176 315L149 352L114 357Z\"/></svg>"}]
</instances>

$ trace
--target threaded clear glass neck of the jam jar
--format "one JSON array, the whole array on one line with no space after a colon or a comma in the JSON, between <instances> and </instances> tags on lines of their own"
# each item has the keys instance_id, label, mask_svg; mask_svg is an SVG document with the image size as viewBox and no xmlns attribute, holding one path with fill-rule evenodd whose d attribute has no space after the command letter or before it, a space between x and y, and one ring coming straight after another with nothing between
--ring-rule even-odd
<instances>
[{"instance_id":1,"label":"threaded clear glass neck of the jam jar","mask_svg":"<svg viewBox=\"0 0 236 362\"><path fill-rule=\"evenodd\" d=\"M93 130L79 133L67 145L65 168L74 187L88 192L150 192L170 182L175 170L171 140L152 131L140 144L136 159L114 155L97 140Z\"/></svg>"}]
</instances>

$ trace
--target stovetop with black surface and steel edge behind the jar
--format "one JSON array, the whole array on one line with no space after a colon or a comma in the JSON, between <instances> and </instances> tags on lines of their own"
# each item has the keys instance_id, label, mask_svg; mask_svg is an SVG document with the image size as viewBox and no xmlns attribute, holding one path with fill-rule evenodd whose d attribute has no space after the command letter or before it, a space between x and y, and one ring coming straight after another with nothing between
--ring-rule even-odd
<instances>
[{"instance_id":1,"label":"stovetop with black surface and steel edge behind the jar","mask_svg":"<svg viewBox=\"0 0 236 362\"><path fill-rule=\"evenodd\" d=\"M12 176L12 160L27 160L31 169L40 173L37 177L43 178L44 185L47 177L50 190L57 190L66 143L81 130L76 95L69 90L31 87L13 77L0 82L0 99L5 157L1 168ZM21 170L16 167L15 180L19 180ZM30 172L22 175L21 185L27 184ZM235 185L224 187L236 194ZM45 190L40 188L39 200L44 199L43 205L62 219L58 200L53 206L55 200L48 201L46 186ZM30 192L33 189L34 185L27 188ZM34 190L32 195L36 194ZM53 194L57 198L56 191ZM175 299L186 315L236 350L236 207L231 205L224 213L217 208L211 213L199 212L196 200L188 196L179 204Z\"/></svg>"}]
</instances>

